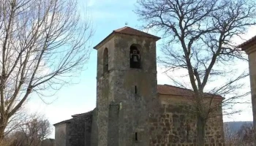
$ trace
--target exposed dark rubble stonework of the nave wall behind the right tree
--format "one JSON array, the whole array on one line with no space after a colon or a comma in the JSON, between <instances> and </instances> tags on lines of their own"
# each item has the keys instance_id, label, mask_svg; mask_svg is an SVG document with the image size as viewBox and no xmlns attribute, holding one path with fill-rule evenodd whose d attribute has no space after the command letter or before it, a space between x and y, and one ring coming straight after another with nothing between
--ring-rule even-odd
<instances>
[{"instance_id":1,"label":"exposed dark rubble stonework of the nave wall behind the right tree","mask_svg":"<svg viewBox=\"0 0 256 146\"><path fill-rule=\"evenodd\" d=\"M197 120L192 106L182 101L178 104L176 100L173 104L162 104L159 112L151 115L152 146L196 146ZM206 146L224 146L222 111L219 113L207 123Z\"/></svg>"}]
</instances>

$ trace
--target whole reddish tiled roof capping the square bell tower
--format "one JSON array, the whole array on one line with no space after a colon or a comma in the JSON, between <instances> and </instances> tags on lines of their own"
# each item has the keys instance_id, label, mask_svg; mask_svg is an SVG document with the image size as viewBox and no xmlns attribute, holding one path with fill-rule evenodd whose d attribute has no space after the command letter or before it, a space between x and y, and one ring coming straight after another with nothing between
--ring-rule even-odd
<instances>
[{"instance_id":1,"label":"whole reddish tiled roof capping the square bell tower","mask_svg":"<svg viewBox=\"0 0 256 146\"><path fill-rule=\"evenodd\" d=\"M148 38L153 38L153 39L161 39L160 37L148 34L146 32L143 31L139 31L135 28L130 28L128 26L125 26L123 28L118 28L116 30L114 30L111 34L108 35L108 37L110 37L112 34L128 34L128 35L133 35L133 36L140 36L140 37L148 37ZM102 42L105 42L106 39L108 39L108 37L106 37L105 39L102 40ZM94 49L97 49L97 47L102 44L102 42L99 42L99 44L97 44Z\"/></svg>"}]
</instances>

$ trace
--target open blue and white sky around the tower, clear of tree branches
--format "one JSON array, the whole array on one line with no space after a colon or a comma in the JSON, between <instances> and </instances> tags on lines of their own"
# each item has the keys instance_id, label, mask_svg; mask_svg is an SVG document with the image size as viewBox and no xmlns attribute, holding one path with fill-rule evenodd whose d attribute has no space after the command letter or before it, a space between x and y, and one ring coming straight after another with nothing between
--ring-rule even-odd
<instances>
[{"instance_id":1,"label":"open blue and white sky around the tower, clear of tree branches","mask_svg":"<svg viewBox=\"0 0 256 146\"><path fill-rule=\"evenodd\" d=\"M81 2L83 3L83 1ZM124 27L126 22L128 26L140 29L142 22L138 20L137 15L133 12L135 3L136 0L87 1L87 7L89 8L95 29L94 37L91 40L92 46L97 45L97 43L107 37L113 30ZM245 39L256 35L254 33L255 31L256 27L252 27L249 30L249 34L246 34ZM239 41L241 42L241 40ZM161 40L157 42L157 55L160 55L160 44ZM71 118L71 115L93 110L96 105L97 51L92 48L90 60L85 65L85 68L80 76L75 78L75 84L66 85L55 96L45 99L49 102L53 101L52 104L44 104L41 99L33 96L27 103L27 109L31 112L44 114L45 118L48 118L51 124L58 123L61 120L67 120ZM158 68L158 84L170 84L170 80L165 74L162 74L162 71L162 69ZM249 96L246 98L249 98ZM241 105L239 108L243 109L244 112L225 118L225 120L252 120L250 104ZM54 138L54 131L51 137Z\"/></svg>"}]
</instances>

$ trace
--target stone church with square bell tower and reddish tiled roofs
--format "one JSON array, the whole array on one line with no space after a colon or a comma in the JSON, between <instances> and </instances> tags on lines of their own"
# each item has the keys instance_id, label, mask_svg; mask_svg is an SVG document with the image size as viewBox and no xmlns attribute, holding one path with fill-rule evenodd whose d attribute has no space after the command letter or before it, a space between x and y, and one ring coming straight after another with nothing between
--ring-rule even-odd
<instances>
[{"instance_id":1,"label":"stone church with square bell tower and reddish tiled roofs","mask_svg":"<svg viewBox=\"0 0 256 146\"><path fill-rule=\"evenodd\" d=\"M193 92L157 85L159 39L124 27L94 47L97 107L54 124L56 146L196 146ZM222 107L206 125L206 146L224 146Z\"/></svg>"}]
</instances>

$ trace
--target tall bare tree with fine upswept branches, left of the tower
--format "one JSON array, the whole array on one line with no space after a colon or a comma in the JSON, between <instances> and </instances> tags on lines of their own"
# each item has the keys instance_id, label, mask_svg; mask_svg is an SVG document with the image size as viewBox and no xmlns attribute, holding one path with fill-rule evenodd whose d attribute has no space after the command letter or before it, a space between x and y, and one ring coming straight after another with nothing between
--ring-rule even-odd
<instances>
[{"instance_id":1,"label":"tall bare tree with fine upswept branches, left of the tower","mask_svg":"<svg viewBox=\"0 0 256 146\"><path fill-rule=\"evenodd\" d=\"M90 22L76 0L0 1L0 141L33 93L53 95L83 69Z\"/></svg>"}]
</instances>

